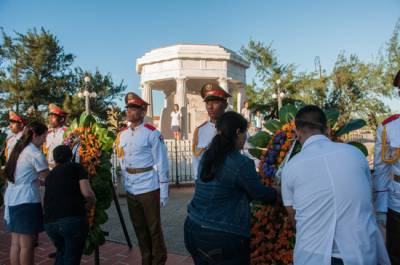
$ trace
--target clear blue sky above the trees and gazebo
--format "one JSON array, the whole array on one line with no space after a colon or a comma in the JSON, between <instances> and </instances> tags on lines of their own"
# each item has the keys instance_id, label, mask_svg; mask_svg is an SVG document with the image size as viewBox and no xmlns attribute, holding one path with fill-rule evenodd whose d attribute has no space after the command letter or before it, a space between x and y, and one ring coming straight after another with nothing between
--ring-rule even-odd
<instances>
[{"instance_id":1,"label":"clear blue sky above the trees and gazebo","mask_svg":"<svg viewBox=\"0 0 400 265\"><path fill-rule=\"evenodd\" d=\"M44 27L75 65L111 73L139 93L136 59L178 43L220 44L239 51L250 40L272 43L282 63L332 69L340 52L373 62L400 19L400 0L0 0L0 26L25 33ZM255 77L247 71L247 82ZM154 93L155 114L162 97ZM385 100L393 112L400 99ZM157 107L158 106L158 107Z\"/></svg>"}]
</instances>

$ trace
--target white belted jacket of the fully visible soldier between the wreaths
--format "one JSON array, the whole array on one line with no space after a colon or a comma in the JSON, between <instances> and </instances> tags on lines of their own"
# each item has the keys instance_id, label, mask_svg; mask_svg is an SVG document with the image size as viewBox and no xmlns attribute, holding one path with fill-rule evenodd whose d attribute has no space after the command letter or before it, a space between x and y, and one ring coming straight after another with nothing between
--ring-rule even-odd
<instances>
[{"instance_id":1,"label":"white belted jacket of the fully visible soldier between the wreaths","mask_svg":"<svg viewBox=\"0 0 400 265\"><path fill-rule=\"evenodd\" d=\"M168 153L161 133L155 127L142 123L119 133L116 140L125 189L139 195L160 189L160 198L168 198ZM153 170L130 174L127 169Z\"/></svg>"}]
</instances>

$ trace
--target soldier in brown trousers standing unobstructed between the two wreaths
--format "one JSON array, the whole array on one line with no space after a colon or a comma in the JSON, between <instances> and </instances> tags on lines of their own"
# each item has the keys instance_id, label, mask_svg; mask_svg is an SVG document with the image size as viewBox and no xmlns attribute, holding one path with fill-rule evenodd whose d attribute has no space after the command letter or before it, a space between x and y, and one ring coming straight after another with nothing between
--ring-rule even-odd
<instances>
[{"instance_id":1,"label":"soldier in brown trousers standing unobstructed between the two wreaths","mask_svg":"<svg viewBox=\"0 0 400 265\"><path fill-rule=\"evenodd\" d=\"M167 250L161 228L160 205L168 201L168 155L161 133L144 123L147 102L135 93L125 96L130 126L116 139L125 179L129 215L139 241L142 265L161 265Z\"/></svg>"}]
</instances>

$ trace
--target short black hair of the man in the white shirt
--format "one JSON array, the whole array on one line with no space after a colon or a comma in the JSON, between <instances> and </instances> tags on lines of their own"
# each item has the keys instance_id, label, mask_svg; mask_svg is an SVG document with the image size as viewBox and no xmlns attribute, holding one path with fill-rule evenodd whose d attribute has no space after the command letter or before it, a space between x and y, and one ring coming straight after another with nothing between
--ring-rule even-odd
<instances>
[{"instance_id":1,"label":"short black hair of the man in the white shirt","mask_svg":"<svg viewBox=\"0 0 400 265\"><path fill-rule=\"evenodd\" d=\"M307 105L301 108L297 112L294 122L298 129L319 130L322 133L328 127L324 111L316 105Z\"/></svg>"}]
</instances>

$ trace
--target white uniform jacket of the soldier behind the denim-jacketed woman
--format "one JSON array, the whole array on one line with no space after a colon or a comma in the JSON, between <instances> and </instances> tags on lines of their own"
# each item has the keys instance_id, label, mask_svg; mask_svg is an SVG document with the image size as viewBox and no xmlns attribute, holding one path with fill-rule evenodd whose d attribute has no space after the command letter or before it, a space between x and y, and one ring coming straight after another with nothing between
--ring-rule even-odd
<instances>
[{"instance_id":1,"label":"white uniform jacket of the soldier behind the denim-jacketed woman","mask_svg":"<svg viewBox=\"0 0 400 265\"><path fill-rule=\"evenodd\" d=\"M195 180L197 179L199 174L198 169L200 160L216 134L217 129L215 128L215 124L210 121L204 122L203 124L198 126L193 133L192 167Z\"/></svg>"}]
</instances>

